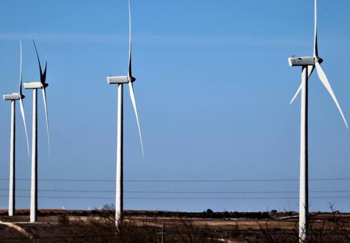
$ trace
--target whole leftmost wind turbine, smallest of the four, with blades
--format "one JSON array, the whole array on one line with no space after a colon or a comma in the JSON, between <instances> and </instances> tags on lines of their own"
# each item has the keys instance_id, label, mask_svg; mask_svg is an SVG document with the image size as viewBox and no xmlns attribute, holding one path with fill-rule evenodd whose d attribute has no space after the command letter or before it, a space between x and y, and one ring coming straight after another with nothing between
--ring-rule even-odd
<instances>
[{"instance_id":1,"label":"whole leftmost wind turbine, smallest of the four, with blades","mask_svg":"<svg viewBox=\"0 0 350 243\"><path fill-rule=\"evenodd\" d=\"M29 157L29 143L28 143L28 133L26 126L26 117L24 115L23 99L25 96L22 94L22 42L20 42L20 88L18 93L13 93L10 95L3 95L3 100L11 101L11 137L10 137L10 182L9 182L9 196L8 196L8 215L13 216L15 214L15 189L16 189L16 174L15 174L15 161L16 161L16 100L20 102L20 109L22 113L22 119L24 123L24 130L26 132L27 138L27 149Z\"/></svg>"}]
</instances>

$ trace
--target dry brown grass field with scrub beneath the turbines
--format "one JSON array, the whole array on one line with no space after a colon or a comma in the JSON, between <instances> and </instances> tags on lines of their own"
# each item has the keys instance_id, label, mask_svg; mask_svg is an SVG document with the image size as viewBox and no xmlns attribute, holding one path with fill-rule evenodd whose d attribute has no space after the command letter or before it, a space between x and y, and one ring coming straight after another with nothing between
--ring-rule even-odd
<instances>
[{"instance_id":1,"label":"dry brown grass field with scrub beneath the turbines","mask_svg":"<svg viewBox=\"0 0 350 243\"><path fill-rule=\"evenodd\" d=\"M113 209L40 210L29 223L28 210L13 217L0 211L1 242L297 242L295 212L181 213L125 211L119 231ZM350 242L350 214L311 213L310 242Z\"/></svg>"}]
</instances>

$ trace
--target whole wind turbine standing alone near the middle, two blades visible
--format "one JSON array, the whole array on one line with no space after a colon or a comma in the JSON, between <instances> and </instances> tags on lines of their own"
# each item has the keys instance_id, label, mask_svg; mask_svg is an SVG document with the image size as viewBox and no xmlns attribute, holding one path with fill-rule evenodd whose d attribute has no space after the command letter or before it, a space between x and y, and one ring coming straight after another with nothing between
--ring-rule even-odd
<instances>
[{"instance_id":1,"label":"whole wind turbine standing alone near the middle, two blades visible","mask_svg":"<svg viewBox=\"0 0 350 243\"><path fill-rule=\"evenodd\" d=\"M117 115L117 176L116 176L116 226L123 220L123 84L128 83L131 102L134 107L137 126L139 128L139 137L141 142L142 156L144 156L144 148L142 145L141 129L139 116L136 108L135 94L133 82L136 80L131 74L131 12L130 0L129 6L129 64L127 76L107 77L107 83L118 84L118 115Z\"/></svg>"}]
</instances>

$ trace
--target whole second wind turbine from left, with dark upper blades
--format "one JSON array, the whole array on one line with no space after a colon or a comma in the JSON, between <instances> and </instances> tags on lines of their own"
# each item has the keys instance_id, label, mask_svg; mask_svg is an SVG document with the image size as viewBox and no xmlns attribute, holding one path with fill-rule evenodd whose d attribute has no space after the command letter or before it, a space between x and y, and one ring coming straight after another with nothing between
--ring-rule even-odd
<instances>
[{"instance_id":1,"label":"whole second wind turbine from left, with dark upper blades","mask_svg":"<svg viewBox=\"0 0 350 243\"><path fill-rule=\"evenodd\" d=\"M30 190L30 222L36 222L37 221L37 210L38 210L38 148L37 148L37 142L38 142L38 123L37 123L37 89L42 90L43 94L43 100L44 100L44 108L45 108L45 116L46 116L46 126L47 126L47 136L48 136L48 143L49 143L49 157L50 157L50 133L49 133L49 120L48 120L48 113L47 113L47 103L46 103L46 91L45 88L49 86L48 83L46 83L46 67L47 67L47 61L45 61L45 69L44 72L42 72L40 59L38 55L38 51L36 49L35 42L33 40L35 51L36 51L36 57L38 59L39 63L39 69L40 69L40 82L29 82L24 83L25 89L33 89L33 126L32 126L32 140L31 140L31 190Z\"/></svg>"}]
</instances>

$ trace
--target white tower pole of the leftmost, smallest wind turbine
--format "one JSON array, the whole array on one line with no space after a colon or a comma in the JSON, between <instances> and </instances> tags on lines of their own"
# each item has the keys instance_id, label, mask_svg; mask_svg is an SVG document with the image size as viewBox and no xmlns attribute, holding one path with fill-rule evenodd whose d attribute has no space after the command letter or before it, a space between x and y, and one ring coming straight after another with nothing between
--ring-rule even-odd
<instances>
[{"instance_id":1,"label":"white tower pole of the leftmost, smallest wind turbine","mask_svg":"<svg viewBox=\"0 0 350 243\"><path fill-rule=\"evenodd\" d=\"M16 102L11 101L11 139L10 139L10 184L8 197L8 215L15 214L15 142L16 142Z\"/></svg>"}]
</instances>

